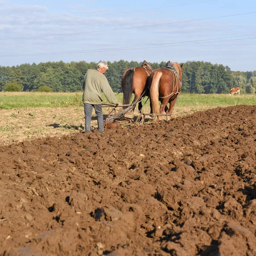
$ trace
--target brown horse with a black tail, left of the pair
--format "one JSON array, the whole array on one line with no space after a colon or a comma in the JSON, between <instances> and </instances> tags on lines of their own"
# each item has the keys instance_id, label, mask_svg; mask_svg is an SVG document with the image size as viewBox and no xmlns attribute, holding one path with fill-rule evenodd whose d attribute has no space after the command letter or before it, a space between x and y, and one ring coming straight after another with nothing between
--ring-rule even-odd
<instances>
[{"instance_id":1,"label":"brown horse with a black tail, left of the pair","mask_svg":"<svg viewBox=\"0 0 256 256\"><path fill-rule=\"evenodd\" d=\"M147 61L143 61L140 67L130 67L122 75L122 91L123 91L123 104L128 105L131 102L131 95L134 93L134 100L136 102L140 96L145 94L149 96L147 92L148 77L150 76L153 68ZM124 107L125 109L126 107ZM134 105L135 108L135 105ZM134 110L134 108L132 110ZM142 102L139 102L139 111L142 109Z\"/></svg>"}]
</instances>

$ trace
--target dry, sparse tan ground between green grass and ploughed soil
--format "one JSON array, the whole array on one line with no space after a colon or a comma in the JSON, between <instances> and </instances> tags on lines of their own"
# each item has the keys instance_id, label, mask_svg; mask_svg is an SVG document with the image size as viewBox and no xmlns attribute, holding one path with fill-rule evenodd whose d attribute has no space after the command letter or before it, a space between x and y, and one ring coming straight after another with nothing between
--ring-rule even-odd
<instances>
[{"instance_id":1,"label":"dry, sparse tan ground between green grass and ploughed soil","mask_svg":"<svg viewBox=\"0 0 256 256\"><path fill-rule=\"evenodd\" d=\"M173 117L184 116L205 109L202 106L175 108ZM106 114L109 108L103 108ZM112 110L112 108L111 108ZM150 108L143 108L149 113ZM80 107L67 108L18 108L0 109L0 145L43 137L61 137L84 131L84 110ZM97 126L93 110L92 128Z\"/></svg>"}]
</instances>

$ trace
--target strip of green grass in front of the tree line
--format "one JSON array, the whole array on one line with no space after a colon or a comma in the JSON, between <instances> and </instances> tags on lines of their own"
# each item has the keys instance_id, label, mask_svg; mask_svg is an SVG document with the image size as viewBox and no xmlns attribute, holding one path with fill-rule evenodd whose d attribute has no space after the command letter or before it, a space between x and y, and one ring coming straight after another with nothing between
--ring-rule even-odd
<instances>
[{"instance_id":1,"label":"strip of green grass in front of the tree line","mask_svg":"<svg viewBox=\"0 0 256 256\"><path fill-rule=\"evenodd\" d=\"M117 95L122 102L122 93ZM103 97L105 99L105 97ZM105 99L105 103L108 101ZM145 102L145 100L144 100ZM82 105L82 93L0 93L0 108L58 108L79 107ZM217 107L233 105L256 105L256 95L244 94L183 94L181 93L175 108L183 107ZM149 107L149 101L145 107Z\"/></svg>"}]
</instances>

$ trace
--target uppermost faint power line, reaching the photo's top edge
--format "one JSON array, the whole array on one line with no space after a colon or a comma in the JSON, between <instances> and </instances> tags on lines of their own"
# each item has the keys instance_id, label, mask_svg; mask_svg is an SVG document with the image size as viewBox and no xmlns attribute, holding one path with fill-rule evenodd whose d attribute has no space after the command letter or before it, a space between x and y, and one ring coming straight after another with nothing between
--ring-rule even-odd
<instances>
[{"instance_id":1,"label":"uppermost faint power line, reaching the photo's top edge","mask_svg":"<svg viewBox=\"0 0 256 256\"><path fill-rule=\"evenodd\" d=\"M36 24L36 23L49 23L49 22L55 22L55 21L75 20L75 19L81 19L81 18L102 17L102 16L108 16L108 15L132 13L132 12L145 12L145 11L153 11L158 9L166 9L166 8L179 7L179 6L188 6L188 5L193 5L197 3L208 3L208 2L214 2L214 1L217 1L217 0L208 0L208 1L201 1L201 2L195 2L195 3L184 3L184 4L175 5L175 6L164 6L164 7L157 7L157 8L151 8L151 9L126 11L126 12L114 12L114 13L107 13L107 14L96 15L96 16L93 15L93 16L84 16L84 17L70 17L70 18L59 19L59 20L42 20L42 21L33 21L33 22L26 22L26 23L9 23L9 24L7 23L7 24L0 24L0 26L30 25L30 24Z\"/></svg>"}]
</instances>

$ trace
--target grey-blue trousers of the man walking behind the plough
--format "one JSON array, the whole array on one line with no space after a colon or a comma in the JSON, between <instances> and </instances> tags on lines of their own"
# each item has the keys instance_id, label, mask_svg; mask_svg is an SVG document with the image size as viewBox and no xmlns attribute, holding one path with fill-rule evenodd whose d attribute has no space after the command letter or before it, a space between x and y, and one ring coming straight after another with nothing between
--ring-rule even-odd
<instances>
[{"instance_id":1,"label":"grey-blue trousers of the man walking behind the plough","mask_svg":"<svg viewBox=\"0 0 256 256\"><path fill-rule=\"evenodd\" d=\"M104 131L104 121L103 121L103 112L102 112L101 104L93 105L93 104L84 103L84 118L85 118L84 130L85 132L90 131L90 122L92 119L93 108L95 109L95 112L97 115L99 132L102 133Z\"/></svg>"}]
</instances>

